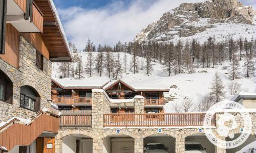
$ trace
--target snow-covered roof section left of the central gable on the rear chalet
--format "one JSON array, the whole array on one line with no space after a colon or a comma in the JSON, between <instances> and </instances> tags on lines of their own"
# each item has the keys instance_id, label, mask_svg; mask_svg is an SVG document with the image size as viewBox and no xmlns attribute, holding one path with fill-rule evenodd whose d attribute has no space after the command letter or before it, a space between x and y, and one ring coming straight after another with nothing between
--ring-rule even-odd
<instances>
[{"instance_id":1,"label":"snow-covered roof section left of the central gable on the rear chalet","mask_svg":"<svg viewBox=\"0 0 256 153\"><path fill-rule=\"evenodd\" d=\"M102 77L99 79L98 77L90 77L80 80L73 78L54 78L52 81L63 89L93 89L103 88L104 85L109 83L109 78Z\"/></svg>"}]
</instances>

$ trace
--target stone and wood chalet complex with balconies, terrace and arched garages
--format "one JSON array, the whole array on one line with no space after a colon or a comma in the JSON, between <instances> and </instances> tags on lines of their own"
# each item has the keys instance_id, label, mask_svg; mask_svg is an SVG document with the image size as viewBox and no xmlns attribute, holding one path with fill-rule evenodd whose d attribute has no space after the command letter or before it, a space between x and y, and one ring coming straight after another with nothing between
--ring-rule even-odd
<instances>
[{"instance_id":1,"label":"stone and wood chalet complex with balconies, terrace and arched garages","mask_svg":"<svg viewBox=\"0 0 256 153\"><path fill-rule=\"evenodd\" d=\"M253 124L248 140L240 147L217 147L204 134L205 112L164 112L166 100L161 98L169 89L138 86L123 80L53 79L52 102L61 112L56 152L141 153L148 145L162 146L163 152L186 152L191 143L210 153L236 152L256 141ZM212 118L212 126L222 114ZM240 125L230 131L237 138L243 119L238 113L231 114ZM250 115L255 121L255 113Z\"/></svg>"}]
</instances>

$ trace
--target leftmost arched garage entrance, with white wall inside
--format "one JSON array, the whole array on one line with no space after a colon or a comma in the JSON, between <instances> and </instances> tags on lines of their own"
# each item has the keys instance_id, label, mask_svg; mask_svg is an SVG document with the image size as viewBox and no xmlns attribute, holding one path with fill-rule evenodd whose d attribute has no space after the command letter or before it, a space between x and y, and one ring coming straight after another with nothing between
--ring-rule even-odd
<instances>
[{"instance_id":1,"label":"leftmost arched garage entrance, with white wall inside","mask_svg":"<svg viewBox=\"0 0 256 153\"><path fill-rule=\"evenodd\" d=\"M93 139L86 135L74 134L62 138L63 153L92 153Z\"/></svg>"}]
</instances>

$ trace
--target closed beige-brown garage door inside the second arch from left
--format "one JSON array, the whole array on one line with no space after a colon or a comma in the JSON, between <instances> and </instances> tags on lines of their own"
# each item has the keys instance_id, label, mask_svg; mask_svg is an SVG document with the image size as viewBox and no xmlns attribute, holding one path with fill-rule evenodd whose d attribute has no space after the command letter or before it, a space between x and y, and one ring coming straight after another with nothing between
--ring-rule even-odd
<instances>
[{"instance_id":1,"label":"closed beige-brown garage door inside the second arch from left","mask_svg":"<svg viewBox=\"0 0 256 153\"><path fill-rule=\"evenodd\" d=\"M134 153L133 138L112 138L111 153Z\"/></svg>"}]
</instances>

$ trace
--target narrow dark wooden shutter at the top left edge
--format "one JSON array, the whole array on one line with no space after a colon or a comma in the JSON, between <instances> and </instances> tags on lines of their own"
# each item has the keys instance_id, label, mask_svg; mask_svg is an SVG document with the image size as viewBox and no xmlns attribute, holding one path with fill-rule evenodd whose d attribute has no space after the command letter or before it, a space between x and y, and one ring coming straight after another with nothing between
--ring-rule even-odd
<instances>
[{"instance_id":1,"label":"narrow dark wooden shutter at the top left edge","mask_svg":"<svg viewBox=\"0 0 256 153\"><path fill-rule=\"evenodd\" d=\"M5 54L7 0L0 1L0 54Z\"/></svg>"}]
</instances>

